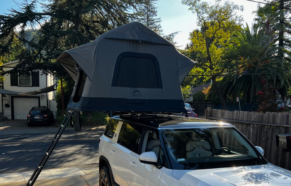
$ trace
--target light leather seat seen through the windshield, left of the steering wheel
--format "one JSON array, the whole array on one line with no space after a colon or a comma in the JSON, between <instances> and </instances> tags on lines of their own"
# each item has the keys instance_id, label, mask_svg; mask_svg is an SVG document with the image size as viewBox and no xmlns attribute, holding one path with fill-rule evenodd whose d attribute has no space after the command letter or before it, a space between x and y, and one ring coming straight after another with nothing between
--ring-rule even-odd
<instances>
[{"instance_id":1,"label":"light leather seat seen through the windshield, left of the steering wheel","mask_svg":"<svg viewBox=\"0 0 291 186\"><path fill-rule=\"evenodd\" d=\"M195 133L192 136L193 141L189 141L186 145L187 158L193 157L207 157L211 156L210 144L203 140L204 138L197 138Z\"/></svg>"}]
</instances>

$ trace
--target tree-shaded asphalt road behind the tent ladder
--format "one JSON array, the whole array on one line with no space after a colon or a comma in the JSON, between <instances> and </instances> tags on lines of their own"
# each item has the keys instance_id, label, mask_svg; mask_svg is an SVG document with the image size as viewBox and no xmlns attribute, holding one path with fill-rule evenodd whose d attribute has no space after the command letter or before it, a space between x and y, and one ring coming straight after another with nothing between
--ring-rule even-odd
<instances>
[{"instance_id":1,"label":"tree-shaded asphalt road behind the tent ladder","mask_svg":"<svg viewBox=\"0 0 291 186\"><path fill-rule=\"evenodd\" d=\"M44 169L93 167L98 164L98 139L102 132L64 133ZM0 173L33 171L54 134L0 136Z\"/></svg>"}]
</instances>

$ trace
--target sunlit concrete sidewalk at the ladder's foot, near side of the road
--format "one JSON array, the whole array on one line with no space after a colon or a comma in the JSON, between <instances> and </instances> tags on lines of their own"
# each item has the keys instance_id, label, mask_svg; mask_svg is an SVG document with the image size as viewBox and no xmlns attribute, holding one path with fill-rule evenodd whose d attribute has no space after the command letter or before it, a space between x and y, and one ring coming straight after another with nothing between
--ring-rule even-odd
<instances>
[{"instance_id":1,"label":"sunlit concrete sidewalk at the ladder's foot, near side of the road","mask_svg":"<svg viewBox=\"0 0 291 186\"><path fill-rule=\"evenodd\" d=\"M0 174L0 186L25 186L33 172ZM34 186L98 186L98 168L42 170Z\"/></svg>"}]
</instances>

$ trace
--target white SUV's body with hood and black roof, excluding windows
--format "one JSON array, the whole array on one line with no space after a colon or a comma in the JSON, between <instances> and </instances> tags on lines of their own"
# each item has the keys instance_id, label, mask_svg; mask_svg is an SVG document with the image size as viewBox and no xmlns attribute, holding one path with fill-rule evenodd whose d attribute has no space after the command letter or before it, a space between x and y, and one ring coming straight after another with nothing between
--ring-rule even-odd
<instances>
[{"instance_id":1,"label":"white SUV's body with hood and black roof, excluding windows","mask_svg":"<svg viewBox=\"0 0 291 186\"><path fill-rule=\"evenodd\" d=\"M172 117L167 115L167 117ZM177 117L177 116L174 116ZM118 119L118 126L112 139L102 135L99 153L108 159L115 183L127 185L159 185L159 186L290 186L291 171L265 162L262 165L226 167L200 170L172 170L168 152L165 159L170 167L158 169L152 164L139 161L139 155L118 144L118 136L123 123L132 121L143 127L151 127L162 138L161 129L189 129L224 127L235 128L233 125L200 118L177 117L166 120L159 117L112 117ZM152 129L150 129L152 130ZM236 129L237 130L237 129ZM237 130L238 131L238 130ZM238 131L239 132L239 131ZM245 137L244 137L245 138ZM247 140L245 138L245 140ZM143 139L141 139L141 142ZM248 140L247 140L248 141ZM163 139L162 149L165 151ZM250 142L249 142L250 143ZM255 148L255 151L257 149ZM264 159L264 157L261 157Z\"/></svg>"}]
</instances>

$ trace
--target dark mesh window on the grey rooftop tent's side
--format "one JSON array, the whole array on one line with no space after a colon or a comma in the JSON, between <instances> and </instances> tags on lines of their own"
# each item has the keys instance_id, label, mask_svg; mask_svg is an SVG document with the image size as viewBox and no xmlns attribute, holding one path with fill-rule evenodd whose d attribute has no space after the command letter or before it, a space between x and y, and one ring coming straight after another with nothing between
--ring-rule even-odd
<instances>
[{"instance_id":1,"label":"dark mesh window on the grey rooftop tent's side","mask_svg":"<svg viewBox=\"0 0 291 186\"><path fill-rule=\"evenodd\" d=\"M157 58L145 53L121 53L116 60L111 86L163 88Z\"/></svg>"}]
</instances>

